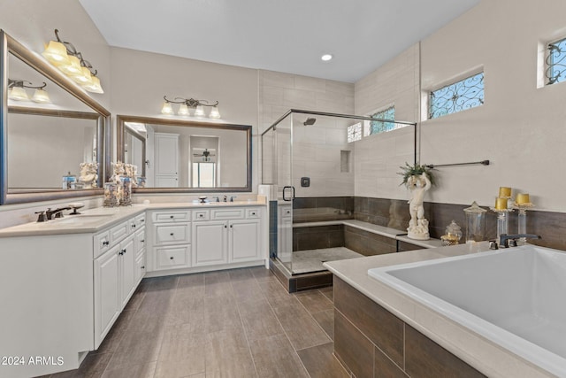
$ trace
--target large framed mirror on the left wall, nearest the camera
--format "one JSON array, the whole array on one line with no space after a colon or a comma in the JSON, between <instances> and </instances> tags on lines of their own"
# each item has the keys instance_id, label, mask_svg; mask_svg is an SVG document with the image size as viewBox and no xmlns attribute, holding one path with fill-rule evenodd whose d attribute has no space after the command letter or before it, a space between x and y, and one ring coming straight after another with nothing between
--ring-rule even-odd
<instances>
[{"instance_id":1,"label":"large framed mirror on the left wall, nearest the camera","mask_svg":"<svg viewBox=\"0 0 566 378\"><path fill-rule=\"evenodd\" d=\"M102 194L110 112L43 58L0 35L0 204ZM42 87L50 101L38 102L30 87ZM25 93L16 96L16 88ZM98 164L97 180L88 189L80 182L64 189L64 176L79 181L82 163Z\"/></svg>"}]
</instances>

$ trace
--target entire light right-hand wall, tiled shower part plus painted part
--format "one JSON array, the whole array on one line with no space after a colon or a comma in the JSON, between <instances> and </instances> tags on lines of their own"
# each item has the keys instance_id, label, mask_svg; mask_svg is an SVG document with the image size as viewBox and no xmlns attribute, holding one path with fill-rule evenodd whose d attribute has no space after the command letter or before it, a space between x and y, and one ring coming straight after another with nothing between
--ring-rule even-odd
<instances>
[{"instance_id":1,"label":"entire light right-hand wall, tiled shower part plus painted part","mask_svg":"<svg viewBox=\"0 0 566 378\"><path fill-rule=\"evenodd\" d=\"M544 66L539 55L545 42L566 36L565 12L561 0L484 0L424 38L420 73L417 44L356 82L356 113L394 104L397 120L418 121L424 114L418 146L422 164L492 162L438 168L438 187L428 200L493 205L499 187L509 186L530 193L536 209L566 210L560 169L566 158L566 84L539 88ZM419 75L425 99L429 90L482 67L486 104L426 120L426 104L419 106L416 92ZM394 185L402 163L394 156L404 155L403 148L392 135L370 138L356 143L356 196L408 197ZM388 149L386 159L379 153L383 149Z\"/></svg>"}]
</instances>

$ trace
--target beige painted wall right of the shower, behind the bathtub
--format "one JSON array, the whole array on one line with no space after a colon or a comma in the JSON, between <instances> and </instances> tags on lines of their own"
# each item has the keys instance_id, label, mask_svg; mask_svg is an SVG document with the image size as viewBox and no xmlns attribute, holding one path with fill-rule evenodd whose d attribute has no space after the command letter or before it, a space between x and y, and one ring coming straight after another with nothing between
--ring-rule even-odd
<instances>
[{"instance_id":1,"label":"beige painted wall right of the shower, behind the bathtub","mask_svg":"<svg viewBox=\"0 0 566 378\"><path fill-rule=\"evenodd\" d=\"M537 88L540 46L566 36L566 2L482 1L422 42L423 90L483 66L486 104L425 120L421 161L489 159L438 169L434 202L492 205L500 186L530 193L537 209L566 211L566 84Z\"/></svg>"}]
</instances>

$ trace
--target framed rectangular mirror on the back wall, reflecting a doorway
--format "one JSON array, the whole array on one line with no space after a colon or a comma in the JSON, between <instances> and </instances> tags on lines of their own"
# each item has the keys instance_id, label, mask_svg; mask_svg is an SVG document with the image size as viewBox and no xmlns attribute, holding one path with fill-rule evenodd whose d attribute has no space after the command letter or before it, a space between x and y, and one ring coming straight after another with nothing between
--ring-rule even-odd
<instances>
[{"instance_id":1,"label":"framed rectangular mirror on the back wall, reflecting a doorway","mask_svg":"<svg viewBox=\"0 0 566 378\"><path fill-rule=\"evenodd\" d=\"M119 115L117 159L138 192L251 191L251 126Z\"/></svg>"}]
</instances>

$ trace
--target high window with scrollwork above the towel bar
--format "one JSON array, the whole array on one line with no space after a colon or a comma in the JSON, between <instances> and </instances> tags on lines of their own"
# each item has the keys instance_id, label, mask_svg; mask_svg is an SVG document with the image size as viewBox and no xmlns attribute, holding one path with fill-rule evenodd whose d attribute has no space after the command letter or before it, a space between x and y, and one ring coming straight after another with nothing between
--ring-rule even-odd
<instances>
[{"instance_id":1,"label":"high window with scrollwork above the towel bar","mask_svg":"<svg viewBox=\"0 0 566 378\"><path fill-rule=\"evenodd\" d=\"M484 104L484 73L477 73L431 92L429 119Z\"/></svg>"}]
</instances>

